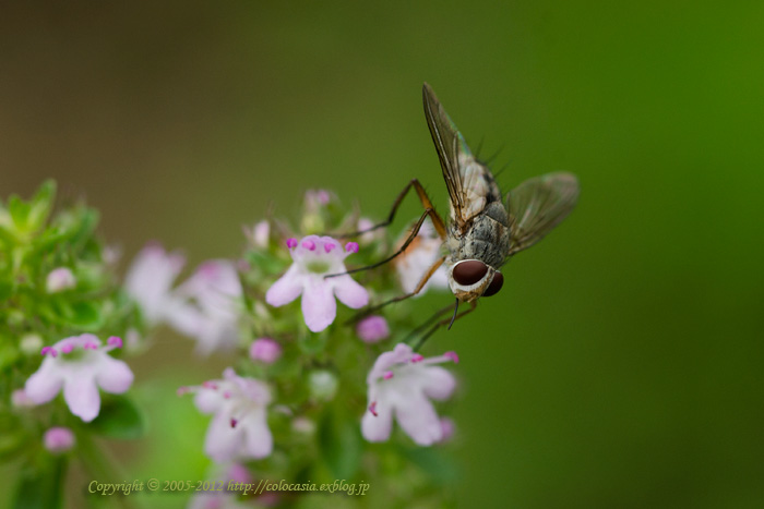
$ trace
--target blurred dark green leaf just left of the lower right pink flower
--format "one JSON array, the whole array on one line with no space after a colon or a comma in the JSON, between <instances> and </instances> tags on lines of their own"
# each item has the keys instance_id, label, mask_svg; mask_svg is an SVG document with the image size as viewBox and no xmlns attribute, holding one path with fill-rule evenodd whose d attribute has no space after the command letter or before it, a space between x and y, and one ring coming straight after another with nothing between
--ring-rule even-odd
<instances>
[{"instance_id":1,"label":"blurred dark green leaf just left of the lower right pink flower","mask_svg":"<svg viewBox=\"0 0 764 509\"><path fill-rule=\"evenodd\" d=\"M334 477L353 478L363 453L358 420L329 412L319 433L322 457Z\"/></svg>"}]
</instances>

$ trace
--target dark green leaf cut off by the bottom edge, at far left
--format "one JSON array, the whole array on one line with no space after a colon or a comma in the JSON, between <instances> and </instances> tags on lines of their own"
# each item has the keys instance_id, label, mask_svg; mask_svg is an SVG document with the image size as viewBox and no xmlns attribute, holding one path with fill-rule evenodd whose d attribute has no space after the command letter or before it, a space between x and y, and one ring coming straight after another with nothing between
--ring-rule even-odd
<instances>
[{"instance_id":1,"label":"dark green leaf cut off by the bottom edge, at far left","mask_svg":"<svg viewBox=\"0 0 764 509\"><path fill-rule=\"evenodd\" d=\"M67 461L62 457L45 457L35 468L25 469L19 477L14 509L58 509L63 507L63 480Z\"/></svg>"}]
</instances>

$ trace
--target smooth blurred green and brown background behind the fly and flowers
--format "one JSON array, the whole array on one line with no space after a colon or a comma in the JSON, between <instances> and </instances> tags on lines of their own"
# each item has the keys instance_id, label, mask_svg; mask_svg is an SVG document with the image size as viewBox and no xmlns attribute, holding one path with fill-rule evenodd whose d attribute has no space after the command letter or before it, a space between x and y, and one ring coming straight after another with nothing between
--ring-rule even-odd
<instances>
[{"instance_id":1,"label":"smooth blurred green and brown background behind the fly and flowers","mask_svg":"<svg viewBox=\"0 0 764 509\"><path fill-rule=\"evenodd\" d=\"M381 217L418 177L443 210L427 81L473 147L502 148L505 190L582 185L429 346L462 357L459 506L762 507L762 2L5 4L0 194L53 177L126 259L158 239L192 267L306 189ZM116 450L128 477L204 473L206 417L172 390L226 360L190 350L168 335L135 367L154 414Z\"/></svg>"}]
</instances>

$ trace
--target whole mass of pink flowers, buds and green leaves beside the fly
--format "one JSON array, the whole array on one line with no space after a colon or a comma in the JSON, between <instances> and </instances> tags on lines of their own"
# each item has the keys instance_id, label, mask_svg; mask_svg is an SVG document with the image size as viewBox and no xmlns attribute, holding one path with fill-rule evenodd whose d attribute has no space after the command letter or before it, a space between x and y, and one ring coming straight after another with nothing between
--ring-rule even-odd
<instances>
[{"instance_id":1,"label":"whole mass of pink flowers, buds and green leaves beside the fly","mask_svg":"<svg viewBox=\"0 0 764 509\"><path fill-rule=\"evenodd\" d=\"M8 239L39 242L29 252L45 253L51 199L44 189L24 216L33 222L23 225L0 207L0 245L12 251ZM437 484L417 474L421 466L405 451L452 436L453 423L439 416L438 407L454 393L456 378L441 364L458 357L453 352L425 357L402 342L421 325L405 306L365 311L414 289L440 253L431 227L394 263L348 274L386 256L396 241L343 208L333 193L309 191L297 228L268 218L244 229L248 247L239 259L206 260L177 282L186 257L151 243L120 284L112 274L116 252L95 241L83 244L92 233L83 228L92 223L87 209L75 211L80 229L67 234L76 244L61 252L84 245L76 256L52 254L22 260L20 268L4 266L11 257L0 256L0 276L33 282L8 286L19 291L2 310L13 332L0 326L0 336L21 330L14 369L24 376L8 395L10 409L32 423L35 412L49 409L31 426L34 435L17 429L19 447L36 439L40 453L61 461L84 455L87 462L97 450L88 446L89 435L139 436L141 412L126 395L134 375L121 357L145 351L151 342L144 338L165 325L193 339L203 356L227 355L231 366L219 378L178 389L193 395L196 409L211 416L199 450L213 461L212 480L369 481L384 472L420 497L439 496ZM58 241L67 225L55 225ZM320 233L359 229L369 231L356 239ZM437 272L426 290L443 288L442 276ZM395 422L408 438L394 435ZM404 497L391 504L413 501ZM291 504L284 494L254 498L261 506ZM193 497L190 507L243 502L226 488Z\"/></svg>"}]
</instances>

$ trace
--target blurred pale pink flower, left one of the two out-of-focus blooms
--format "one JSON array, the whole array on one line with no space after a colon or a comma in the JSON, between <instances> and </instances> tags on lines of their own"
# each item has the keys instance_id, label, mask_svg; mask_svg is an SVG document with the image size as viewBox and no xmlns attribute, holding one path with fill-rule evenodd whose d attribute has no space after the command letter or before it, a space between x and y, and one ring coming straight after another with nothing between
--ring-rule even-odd
<instances>
[{"instance_id":1,"label":"blurred pale pink flower, left one of the two out-of-focus blooms","mask_svg":"<svg viewBox=\"0 0 764 509\"><path fill-rule=\"evenodd\" d=\"M135 256L124 287L150 325L165 320L176 307L170 289L184 264L181 254L167 253L159 244L148 244Z\"/></svg>"}]
</instances>

